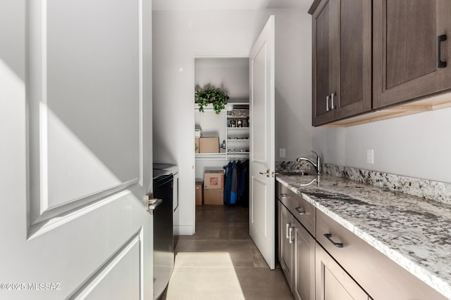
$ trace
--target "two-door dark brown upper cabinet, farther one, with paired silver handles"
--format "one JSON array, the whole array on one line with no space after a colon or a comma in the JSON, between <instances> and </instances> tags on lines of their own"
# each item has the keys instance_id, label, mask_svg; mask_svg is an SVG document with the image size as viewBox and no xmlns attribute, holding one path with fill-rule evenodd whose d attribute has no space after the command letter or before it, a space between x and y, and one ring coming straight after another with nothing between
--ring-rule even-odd
<instances>
[{"instance_id":1,"label":"two-door dark brown upper cabinet, farther one, with paired silver handles","mask_svg":"<svg viewBox=\"0 0 451 300\"><path fill-rule=\"evenodd\" d=\"M312 124L371 110L371 0L323 0L313 15Z\"/></svg>"}]
</instances>

